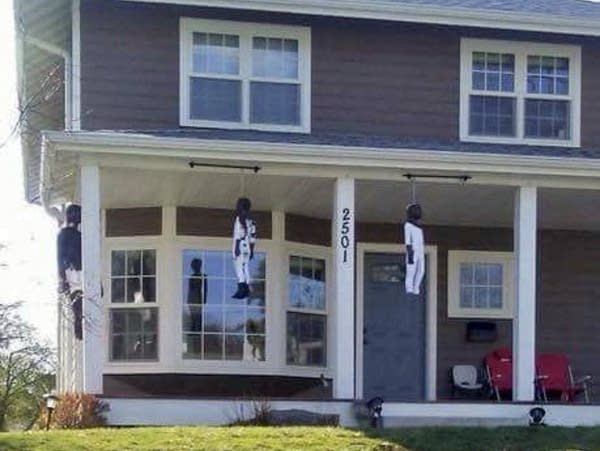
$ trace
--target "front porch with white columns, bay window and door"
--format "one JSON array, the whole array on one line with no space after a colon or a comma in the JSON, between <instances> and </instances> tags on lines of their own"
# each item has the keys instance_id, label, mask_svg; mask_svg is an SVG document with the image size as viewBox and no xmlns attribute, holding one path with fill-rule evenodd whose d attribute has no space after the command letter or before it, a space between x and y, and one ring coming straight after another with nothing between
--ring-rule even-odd
<instances>
[{"instance_id":1,"label":"front porch with white columns, bay window and door","mask_svg":"<svg viewBox=\"0 0 600 451\"><path fill-rule=\"evenodd\" d=\"M225 404L231 403L223 398L249 394L269 396L282 405L308 402L307 406L318 409L335 406L334 410L348 411L351 400L379 394L375 387L381 381L375 380L377 371L374 373L372 369L380 367L377 360L369 360L368 353L377 355L372 349L387 350L394 355L396 360L392 363L398 365L391 365L390 370L402 366L402 352L408 357L406 361L420 362L404 373L397 373L409 377L397 384L408 388L380 394L389 399L384 404L384 415L403 421L408 421L408 417L434 423L453 418L460 422L471 417L525 421L534 399L536 352L566 353L578 374L600 375L595 358L598 345L594 339L600 315L595 307L596 287L600 282L596 264L600 215L594 206L600 184L593 171L556 169L554 174L542 176L537 169L507 170L475 163L449 166L433 161L425 168L422 161L405 158L403 154L385 165L378 161L377 166L338 159L319 165L321 160L314 155L313 163L309 163L310 158L284 163L245 152L221 160L203 159L203 154L192 151L186 155L169 154L168 158L157 155L142 158L114 152L108 155L97 146L87 152L83 150L86 147L73 145L63 152L81 154L84 249L92 246L93 250L95 245L97 250L88 250L87 255L98 256L85 260L87 268L97 268L94 278L89 277L88 271L86 281L96 287L102 282L105 289L101 308L92 310L92 304L88 309L92 310L88 315L95 312L94 320L89 323L94 327L87 329L83 357L75 357L83 360L78 365L81 374L72 377L65 374L62 383L63 387L82 384L86 391L103 394L115 406L122 406L124 410L119 407L111 414L115 424L126 424L123 418L130 418L120 417L119 412L167 402L159 401L161 397L170 398L172 406L181 406L181 410L169 408L180 412L185 412L188 405L193 406L190 412L208 406L206 409L214 414L213 418L220 418L215 409L223 410ZM188 163L192 159L224 165L240 165L241 161L249 166L258 165L261 170L254 174L212 166L191 169ZM496 172L501 170L504 172ZM399 353L399 346L395 345L400 343L402 334L377 337L372 330L367 330L366 336L364 332L366 315L385 311L369 311L368 306L387 298L397 300L389 293L402 286L397 277L403 271L398 224L404 219L405 205L411 196L411 187L403 178L407 172L466 174L472 179L466 184L447 179L417 182L417 198L425 211L427 288L426 296L416 305L404 299L390 302L412 308L393 312L404 321L397 322L399 332L409 325L420 324L408 338L412 341L407 341L408 345L405 343L404 351ZM260 285L256 292L260 295L254 304L243 307L227 306L226 293L230 287L225 280L232 277L227 275L231 272L227 257L231 245L231 210L240 195L253 201L260 238L258 261L265 263L262 274L258 268L255 273ZM345 221L347 227L342 227ZM343 246L342 232L346 229L347 246ZM155 273L148 274L156 279L152 305L133 302L133 298L128 302L127 294L123 302L115 302L114 253L144 249L156 251ZM510 304L509 309L495 312L487 305L485 312L478 313L473 311L476 306L471 305L471 309L467 306L461 310L460 298L449 287L450 257L457 251L480 253L484 257L486 253L512 253L510 261L515 277L507 270L506 280L501 284L503 300ZM221 329L207 331L201 326L200 330L192 331L193 309L186 305L189 288L186 291L185 285L193 276L186 273L186 268L194 258L204 259L208 265L215 255L223 259L224 273L219 277L225 282L218 295L221 300L208 304L221 305L213 309L221 315ZM382 260L369 262L369 258ZM310 276L302 273L304 260L311 267ZM298 261L300 270L296 274ZM485 259L482 261L485 263ZM317 275L319 268L322 275ZM309 297L314 304L292 303L295 275L310 279ZM136 276L142 280L146 274ZM366 291L368 283L372 284L372 292L388 294L373 298L373 293L369 295ZM323 302L314 294L321 289ZM213 292L213 288L208 291ZM489 304L491 295L486 296ZM118 333L111 323L112 312L136 308L156 309L156 324L149 320L152 324L148 326L156 328L149 334L156 346L155 354L149 344L150 354L142 355L154 358L139 358L115 349ZM227 315L235 309L243 321L232 317L229 322ZM565 313L571 318L567 325ZM259 324L252 332L247 329L250 317L256 320L253 324ZM381 319L375 318L373 324ZM481 319L495 325L495 338L487 342L468 340L467 325ZM294 329L291 322L308 323L314 330L299 332L302 327ZM241 326L246 327L243 332L236 326L241 323L246 324ZM69 340L67 329L68 325L63 325L63 344ZM207 345L207 338L214 335L222 338L212 344L209 340ZM240 340L230 339L230 335ZM194 341L192 336L200 336L200 341ZM369 350L374 340L380 343ZM124 343L118 346L126 348L127 342ZM416 354L411 353L411 343L420 347ZM499 347L513 349L513 395L520 403L486 405L452 400L450 367L481 366L483 356ZM415 355L417 359L413 358ZM394 374L385 373L392 377ZM181 376L192 379L183 385L173 382ZM251 378L260 382L249 383L247 391L237 396L218 390L206 394L198 388L210 385L206 383L208 377L214 381L219 376L228 381L225 385L244 386L240 381ZM394 380L383 383L389 387ZM277 394L274 386L296 388ZM204 399L178 399L185 396L180 392L181 387L190 390L188 397ZM273 393L257 393L256 387L271 387ZM206 400L207 396L221 399ZM599 399L594 390L591 398L592 402ZM332 400L325 401L329 399ZM589 418L596 413L595 406L550 405L549 409L548 421L553 418L554 424L565 425L579 424L578 421L591 424L586 423L593 420L586 419L585 412L589 410ZM582 416L569 419L571 409L582 412ZM174 413L173 418L179 418L177 415ZM181 415L185 421L195 418Z\"/></svg>"}]
</instances>

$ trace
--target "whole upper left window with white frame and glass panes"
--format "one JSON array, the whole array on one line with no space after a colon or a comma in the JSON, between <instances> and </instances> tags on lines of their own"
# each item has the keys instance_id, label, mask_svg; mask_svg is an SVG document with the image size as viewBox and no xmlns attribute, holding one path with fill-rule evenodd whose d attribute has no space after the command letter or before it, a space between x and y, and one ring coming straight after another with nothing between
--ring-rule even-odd
<instances>
[{"instance_id":1,"label":"whole upper left window with white frame and glass panes","mask_svg":"<svg viewBox=\"0 0 600 451\"><path fill-rule=\"evenodd\" d=\"M310 29L181 20L181 125L310 131Z\"/></svg>"}]
</instances>

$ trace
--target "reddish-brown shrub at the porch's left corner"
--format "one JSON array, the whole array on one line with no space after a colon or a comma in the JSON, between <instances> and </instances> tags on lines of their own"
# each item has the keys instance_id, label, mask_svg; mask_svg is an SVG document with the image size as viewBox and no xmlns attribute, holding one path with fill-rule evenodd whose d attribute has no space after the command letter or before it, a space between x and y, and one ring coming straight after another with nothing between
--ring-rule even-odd
<instances>
[{"instance_id":1,"label":"reddish-brown shrub at the porch's left corner","mask_svg":"<svg viewBox=\"0 0 600 451\"><path fill-rule=\"evenodd\" d=\"M44 409L45 410L45 409ZM108 404L86 393L64 393L52 414L53 429L89 429L106 425L104 413ZM46 414L40 416L39 426L46 427Z\"/></svg>"}]
</instances>

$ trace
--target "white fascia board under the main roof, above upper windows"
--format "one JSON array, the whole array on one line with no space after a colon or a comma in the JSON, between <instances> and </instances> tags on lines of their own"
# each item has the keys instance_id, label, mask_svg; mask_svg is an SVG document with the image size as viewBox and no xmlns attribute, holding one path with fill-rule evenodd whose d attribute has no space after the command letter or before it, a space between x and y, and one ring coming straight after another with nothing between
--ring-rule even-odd
<instances>
[{"instance_id":1,"label":"white fascia board under the main roof, above upper windows","mask_svg":"<svg viewBox=\"0 0 600 451\"><path fill-rule=\"evenodd\" d=\"M468 27L526 30L549 33L600 36L597 19L525 14L512 11L414 6L372 0L121 0L169 3L228 9L273 11L293 14L391 20Z\"/></svg>"}]
</instances>

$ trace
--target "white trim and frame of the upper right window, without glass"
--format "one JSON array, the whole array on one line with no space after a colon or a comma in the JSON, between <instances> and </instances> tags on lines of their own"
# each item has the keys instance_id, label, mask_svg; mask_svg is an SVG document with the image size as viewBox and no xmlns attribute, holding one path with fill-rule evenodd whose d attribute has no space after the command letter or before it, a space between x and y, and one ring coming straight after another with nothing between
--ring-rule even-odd
<instances>
[{"instance_id":1,"label":"white trim and frame of the upper right window, without glass","mask_svg":"<svg viewBox=\"0 0 600 451\"><path fill-rule=\"evenodd\" d=\"M511 53L515 55L515 91L513 95L498 91L473 91L472 56L473 52ZM527 94L526 72L527 55L544 55L569 58L569 95L552 96ZM482 95L509 96L517 99L516 136L472 136L469 134L469 96ZM571 101L571 138L568 140L525 138L525 98L554 98ZM581 47L563 44L536 42L500 41L489 39L462 38L460 41L460 140L478 143L528 144L536 146L581 146Z\"/></svg>"}]
</instances>

